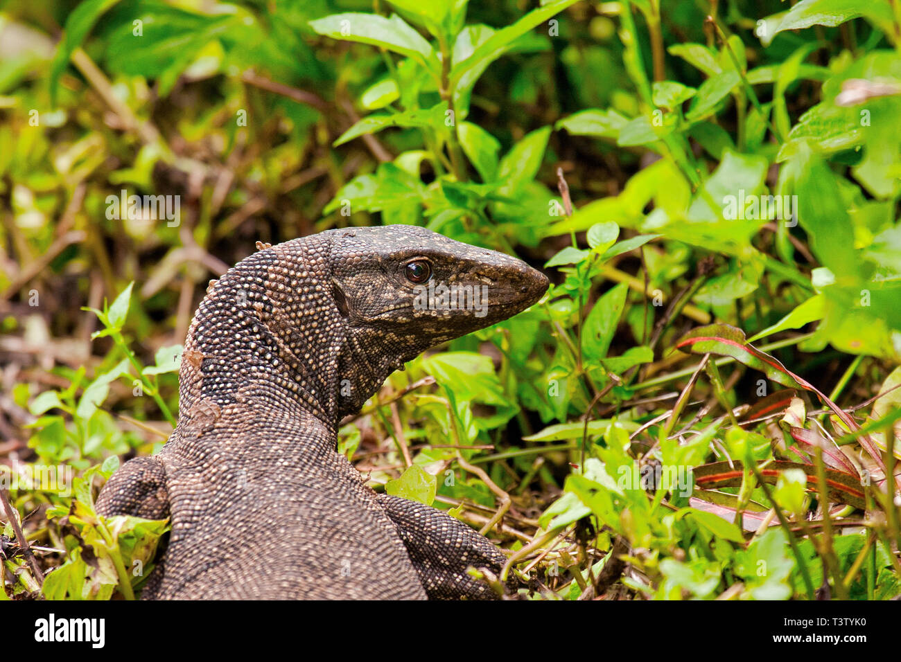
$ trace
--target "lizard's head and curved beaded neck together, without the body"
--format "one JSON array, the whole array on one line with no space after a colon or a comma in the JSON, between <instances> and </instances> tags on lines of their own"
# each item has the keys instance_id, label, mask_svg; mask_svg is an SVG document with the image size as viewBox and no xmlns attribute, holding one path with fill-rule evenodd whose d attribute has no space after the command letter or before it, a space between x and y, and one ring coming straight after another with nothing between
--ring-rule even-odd
<instances>
[{"instance_id":1,"label":"lizard's head and curved beaded neck together, without the body","mask_svg":"<svg viewBox=\"0 0 901 662\"><path fill-rule=\"evenodd\" d=\"M181 400L223 407L275 388L333 423L424 349L520 313L547 287L522 260L408 225L266 247L207 289Z\"/></svg>"}]
</instances>

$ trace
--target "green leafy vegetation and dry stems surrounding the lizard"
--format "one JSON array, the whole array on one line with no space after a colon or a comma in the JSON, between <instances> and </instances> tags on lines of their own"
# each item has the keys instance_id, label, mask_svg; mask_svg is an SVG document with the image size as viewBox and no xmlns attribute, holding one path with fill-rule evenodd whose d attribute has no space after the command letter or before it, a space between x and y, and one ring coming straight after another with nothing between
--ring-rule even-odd
<instances>
[{"instance_id":1,"label":"green leafy vegetation and dry stems surrounding the lizard","mask_svg":"<svg viewBox=\"0 0 901 662\"><path fill-rule=\"evenodd\" d=\"M553 285L345 422L370 485L536 598L898 596L899 54L897 0L9 0L0 599L138 594L167 522L94 499L206 282L397 222Z\"/></svg>"}]
</instances>

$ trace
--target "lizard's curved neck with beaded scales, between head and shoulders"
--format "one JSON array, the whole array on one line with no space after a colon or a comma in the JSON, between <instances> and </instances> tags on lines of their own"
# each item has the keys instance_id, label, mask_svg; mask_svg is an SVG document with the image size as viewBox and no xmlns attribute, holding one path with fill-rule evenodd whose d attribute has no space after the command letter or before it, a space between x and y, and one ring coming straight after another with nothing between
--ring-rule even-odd
<instances>
[{"instance_id":1,"label":"lizard's curved neck with beaded scales, between head and shoulders","mask_svg":"<svg viewBox=\"0 0 901 662\"><path fill-rule=\"evenodd\" d=\"M332 431L397 367L373 359L335 304L329 232L287 241L241 260L207 295L187 334L180 409L246 404L311 414ZM390 365L389 365L390 364ZM401 364L403 365L403 364Z\"/></svg>"}]
</instances>

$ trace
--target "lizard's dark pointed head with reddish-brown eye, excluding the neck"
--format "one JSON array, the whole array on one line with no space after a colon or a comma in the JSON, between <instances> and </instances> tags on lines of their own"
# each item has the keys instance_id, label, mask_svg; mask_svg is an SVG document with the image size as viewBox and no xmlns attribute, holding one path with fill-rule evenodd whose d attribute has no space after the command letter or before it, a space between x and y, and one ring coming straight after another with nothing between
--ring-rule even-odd
<instances>
[{"instance_id":1,"label":"lizard's dark pointed head with reddish-brown eye, excluding the neck","mask_svg":"<svg viewBox=\"0 0 901 662\"><path fill-rule=\"evenodd\" d=\"M425 228L333 232L332 299L347 325L344 362L369 372L364 392L424 349L522 312L548 288L548 278L520 259Z\"/></svg>"}]
</instances>

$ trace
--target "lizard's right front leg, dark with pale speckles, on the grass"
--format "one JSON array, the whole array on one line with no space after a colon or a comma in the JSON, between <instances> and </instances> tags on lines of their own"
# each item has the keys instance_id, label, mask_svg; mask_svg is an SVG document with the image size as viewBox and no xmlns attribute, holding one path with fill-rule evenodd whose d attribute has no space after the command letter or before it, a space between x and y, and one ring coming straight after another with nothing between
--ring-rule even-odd
<instances>
[{"instance_id":1,"label":"lizard's right front leg, dark with pale speckles, on the grass","mask_svg":"<svg viewBox=\"0 0 901 662\"><path fill-rule=\"evenodd\" d=\"M469 576L466 568L487 567L499 573L506 557L487 538L451 515L399 496L378 494L378 503L394 522L425 593L432 600L491 600L490 586Z\"/></svg>"}]
</instances>

